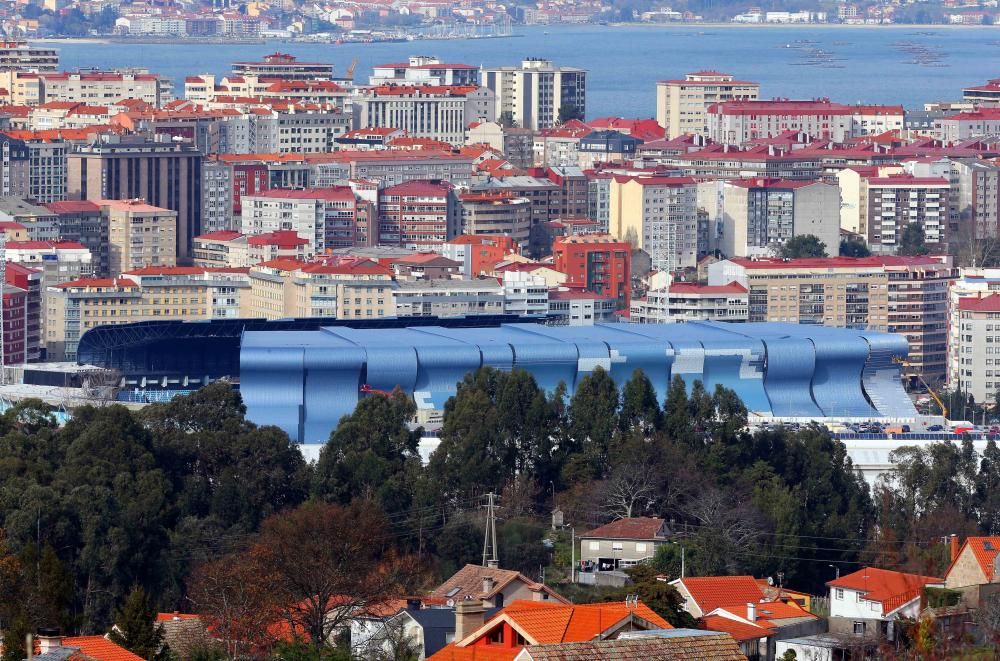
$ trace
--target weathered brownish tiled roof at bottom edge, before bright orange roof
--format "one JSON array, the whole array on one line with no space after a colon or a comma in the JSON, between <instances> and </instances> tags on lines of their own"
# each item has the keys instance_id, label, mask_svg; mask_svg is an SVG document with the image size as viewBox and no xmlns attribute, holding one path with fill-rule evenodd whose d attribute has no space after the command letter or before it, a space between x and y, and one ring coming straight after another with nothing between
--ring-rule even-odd
<instances>
[{"instance_id":1,"label":"weathered brownish tiled roof at bottom edge, before bright orange roof","mask_svg":"<svg viewBox=\"0 0 1000 661\"><path fill-rule=\"evenodd\" d=\"M528 645L514 661L619 661L658 659L662 661L744 661L731 636L699 629L668 629L639 632L635 637L591 640L559 645Z\"/></svg>"}]
</instances>

